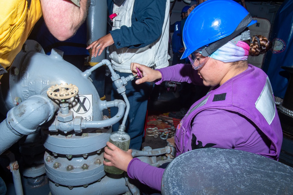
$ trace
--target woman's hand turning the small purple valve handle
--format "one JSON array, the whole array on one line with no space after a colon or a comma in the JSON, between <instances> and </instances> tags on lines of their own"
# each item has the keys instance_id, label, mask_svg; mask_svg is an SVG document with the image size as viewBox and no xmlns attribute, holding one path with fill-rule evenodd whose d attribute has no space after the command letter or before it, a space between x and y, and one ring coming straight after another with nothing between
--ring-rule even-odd
<instances>
[{"instance_id":1,"label":"woman's hand turning the small purple valve handle","mask_svg":"<svg viewBox=\"0 0 293 195\"><path fill-rule=\"evenodd\" d=\"M143 75L142 78L137 79L135 81L136 84L140 84L140 83L144 83L144 82L152 82L152 81L155 81L157 79L162 78L160 71L153 70L150 67L147 67L142 64L134 63L134 62L132 62L130 64L130 69L131 69L133 75L137 74L136 68L138 68L139 71L141 71L142 75Z\"/></svg>"}]
</instances>

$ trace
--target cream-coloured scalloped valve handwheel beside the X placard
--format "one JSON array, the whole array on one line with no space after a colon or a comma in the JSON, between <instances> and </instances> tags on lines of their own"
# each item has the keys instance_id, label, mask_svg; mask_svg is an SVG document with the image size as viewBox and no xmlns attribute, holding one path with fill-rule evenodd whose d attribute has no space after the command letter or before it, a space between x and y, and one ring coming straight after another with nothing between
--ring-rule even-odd
<instances>
[{"instance_id":1,"label":"cream-coloured scalloped valve handwheel beside the X placard","mask_svg":"<svg viewBox=\"0 0 293 195\"><path fill-rule=\"evenodd\" d=\"M53 85L47 90L47 95L49 98L53 99L69 99L78 94L78 88L76 85L73 84L67 84L63 85L62 83L60 85Z\"/></svg>"}]
</instances>

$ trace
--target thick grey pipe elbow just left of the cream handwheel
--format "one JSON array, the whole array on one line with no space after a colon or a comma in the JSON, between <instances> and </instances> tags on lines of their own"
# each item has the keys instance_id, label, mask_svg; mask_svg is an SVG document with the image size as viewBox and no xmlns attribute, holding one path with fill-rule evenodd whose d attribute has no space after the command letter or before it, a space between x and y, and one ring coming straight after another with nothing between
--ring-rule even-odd
<instances>
[{"instance_id":1,"label":"thick grey pipe elbow just left of the cream handwheel","mask_svg":"<svg viewBox=\"0 0 293 195\"><path fill-rule=\"evenodd\" d=\"M48 122L59 106L44 95L33 95L13 107L0 124L0 154L24 135L32 134Z\"/></svg>"}]
</instances>

